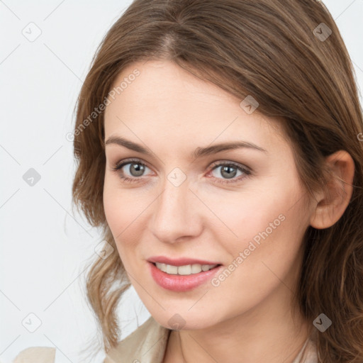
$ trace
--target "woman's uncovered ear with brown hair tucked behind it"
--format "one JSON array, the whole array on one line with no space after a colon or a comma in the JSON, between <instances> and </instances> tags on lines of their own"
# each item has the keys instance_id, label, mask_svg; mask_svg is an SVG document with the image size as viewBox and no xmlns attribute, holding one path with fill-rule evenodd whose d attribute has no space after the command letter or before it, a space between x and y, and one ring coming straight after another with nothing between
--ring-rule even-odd
<instances>
[{"instance_id":1,"label":"woman's uncovered ear with brown hair tucked behind it","mask_svg":"<svg viewBox=\"0 0 363 363\"><path fill-rule=\"evenodd\" d=\"M328 181L328 192L320 191L315 210L311 215L313 228L329 228L345 212L353 193L354 160L345 150L339 150L326 157L326 163L332 172Z\"/></svg>"}]
</instances>

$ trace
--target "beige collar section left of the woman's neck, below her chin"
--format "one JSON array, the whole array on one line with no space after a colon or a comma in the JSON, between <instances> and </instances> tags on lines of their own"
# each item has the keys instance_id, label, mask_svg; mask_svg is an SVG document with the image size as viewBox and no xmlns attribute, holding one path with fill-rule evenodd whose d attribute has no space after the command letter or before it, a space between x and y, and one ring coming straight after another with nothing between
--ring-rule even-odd
<instances>
[{"instance_id":1,"label":"beige collar section left of the woman's neck, below her chin","mask_svg":"<svg viewBox=\"0 0 363 363\"><path fill-rule=\"evenodd\" d=\"M170 332L150 316L106 354L104 363L162 363Z\"/></svg>"}]
</instances>

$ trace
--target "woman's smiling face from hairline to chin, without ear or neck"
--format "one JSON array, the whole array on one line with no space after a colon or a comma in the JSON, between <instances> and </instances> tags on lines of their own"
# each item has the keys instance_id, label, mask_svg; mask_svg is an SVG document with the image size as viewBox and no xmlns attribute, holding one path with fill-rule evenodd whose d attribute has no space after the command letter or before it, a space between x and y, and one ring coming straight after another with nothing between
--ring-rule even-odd
<instances>
[{"instance_id":1,"label":"woman's smiling face from hairline to chin, without ear or neck","mask_svg":"<svg viewBox=\"0 0 363 363\"><path fill-rule=\"evenodd\" d=\"M279 123L171 62L135 63L121 82L105 111L104 209L147 310L201 329L288 308L313 211ZM160 272L153 257L186 267Z\"/></svg>"}]
</instances>

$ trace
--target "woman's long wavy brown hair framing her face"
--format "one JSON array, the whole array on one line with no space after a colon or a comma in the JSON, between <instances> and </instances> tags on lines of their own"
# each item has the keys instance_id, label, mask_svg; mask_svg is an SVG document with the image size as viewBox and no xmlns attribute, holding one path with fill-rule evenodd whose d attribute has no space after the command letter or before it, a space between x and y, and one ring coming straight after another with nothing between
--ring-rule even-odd
<instances>
[{"instance_id":1,"label":"woman's long wavy brown hair framing her face","mask_svg":"<svg viewBox=\"0 0 363 363\"><path fill-rule=\"evenodd\" d=\"M362 106L340 31L315 0L135 0L106 34L77 100L72 188L74 204L113 246L86 281L105 351L118 342L116 308L130 281L104 214L104 112L92 112L140 60L171 60L241 101L253 96L260 113L281 120L310 196L327 184L325 157L350 153L352 198L333 226L306 230L296 301L312 326L320 313L333 322L324 333L312 329L320 362L363 362Z\"/></svg>"}]
</instances>

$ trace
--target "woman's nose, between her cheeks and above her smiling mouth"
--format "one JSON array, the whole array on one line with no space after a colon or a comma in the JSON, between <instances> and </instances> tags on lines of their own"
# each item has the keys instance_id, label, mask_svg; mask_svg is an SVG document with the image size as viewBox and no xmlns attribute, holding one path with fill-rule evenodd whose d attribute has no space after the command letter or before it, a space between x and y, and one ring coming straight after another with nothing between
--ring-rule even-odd
<instances>
[{"instance_id":1,"label":"woman's nose, between her cheeks and above her smiling mouth","mask_svg":"<svg viewBox=\"0 0 363 363\"><path fill-rule=\"evenodd\" d=\"M179 186L166 179L163 186L162 193L152 203L152 234L167 243L197 237L203 228L202 203L189 189L188 179Z\"/></svg>"}]
</instances>

